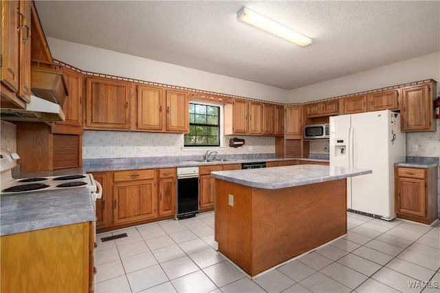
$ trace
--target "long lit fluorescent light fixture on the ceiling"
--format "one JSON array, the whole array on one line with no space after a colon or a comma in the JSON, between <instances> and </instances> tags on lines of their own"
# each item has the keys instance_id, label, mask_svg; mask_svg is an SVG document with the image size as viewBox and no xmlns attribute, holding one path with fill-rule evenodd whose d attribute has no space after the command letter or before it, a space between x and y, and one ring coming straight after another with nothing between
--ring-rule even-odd
<instances>
[{"instance_id":1,"label":"long lit fluorescent light fixture on the ceiling","mask_svg":"<svg viewBox=\"0 0 440 293\"><path fill-rule=\"evenodd\" d=\"M236 12L236 19L250 25L254 25L256 28L265 30L270 34L279 36L287 41L296 43L296 45L300 45L301 47L310 45L312 41L309 37L286 28L284 25L277 23L276 21L272 21L272 19L268 19L267 17L264 17L263 15L256 13L249 8L243 7L239 12Z\"/></svg>"}]
</instances>

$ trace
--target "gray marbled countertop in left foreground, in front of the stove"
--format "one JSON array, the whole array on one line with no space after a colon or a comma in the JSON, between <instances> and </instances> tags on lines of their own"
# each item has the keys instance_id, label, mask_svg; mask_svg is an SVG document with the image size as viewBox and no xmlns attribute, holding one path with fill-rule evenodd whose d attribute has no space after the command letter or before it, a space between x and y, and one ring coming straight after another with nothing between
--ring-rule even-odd
<instances>
[{"instance_id":1,"label":"gray marbled countertop in left foreground, in front of the stove","mask_svg":"<svg viewBox=\"0 0 440 293\"><path fill-rule=\"evenodd\" d=\"M95 219L87 188L2 195L0 200L0 236Z\"/></svg>"}]
</instances>

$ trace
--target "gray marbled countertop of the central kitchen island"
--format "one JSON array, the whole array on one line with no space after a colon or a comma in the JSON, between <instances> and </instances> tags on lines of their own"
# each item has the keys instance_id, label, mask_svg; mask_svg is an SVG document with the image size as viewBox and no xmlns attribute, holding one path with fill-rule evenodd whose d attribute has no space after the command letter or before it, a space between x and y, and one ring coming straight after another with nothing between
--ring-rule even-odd
<instances>
[{"instance_id":1,"label":"gray marbled countertop of the central kitchen island","mask_svg":"<svg viewBox=\"0 0 440 293\"><path fill-rule=\"evenodd\" d=\"M211 176L256 188L278 189L373 173L368 169L348 169L337 166L296 165L265 169L214 171Z\"/></svg>"}]
</instances>

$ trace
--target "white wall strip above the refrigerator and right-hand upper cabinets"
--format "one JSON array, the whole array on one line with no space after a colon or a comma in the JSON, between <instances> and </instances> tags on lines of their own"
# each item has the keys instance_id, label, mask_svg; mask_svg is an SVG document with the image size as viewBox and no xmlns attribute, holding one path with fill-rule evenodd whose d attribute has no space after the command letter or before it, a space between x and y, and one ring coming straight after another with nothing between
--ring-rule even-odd
<instances>
[{"instance_id":1,"label":"white wall strip above the refrigerator and right-hand upper cabinets","mask_svg":"<svg viewBox=\"0 0 440 293\"><path fill-rule=\"evenodd\" d=\"M288 100L310 102L431 78L440 82L440 52L292 89Z\"/></svg>"}]
</instances>

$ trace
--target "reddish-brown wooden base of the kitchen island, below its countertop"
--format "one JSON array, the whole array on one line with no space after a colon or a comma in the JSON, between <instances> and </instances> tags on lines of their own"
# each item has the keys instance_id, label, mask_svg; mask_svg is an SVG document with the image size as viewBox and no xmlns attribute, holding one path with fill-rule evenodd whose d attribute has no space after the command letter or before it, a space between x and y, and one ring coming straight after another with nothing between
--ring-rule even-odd
<instances>
[{"instance_id":1,"label":"reddish-brown wooden base of the kitchen island, below its countertop","mask_svg":"<svg viewBox=\"0 0 440 293\"><path fill-rule=\"evenodd\" d=\"M280 189L215 184L219 252L250 276L347 233L346 179Z\"/></svg>"}]
</instances>

